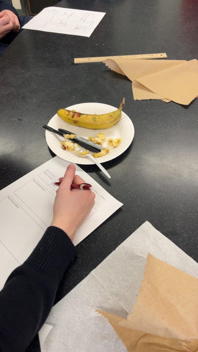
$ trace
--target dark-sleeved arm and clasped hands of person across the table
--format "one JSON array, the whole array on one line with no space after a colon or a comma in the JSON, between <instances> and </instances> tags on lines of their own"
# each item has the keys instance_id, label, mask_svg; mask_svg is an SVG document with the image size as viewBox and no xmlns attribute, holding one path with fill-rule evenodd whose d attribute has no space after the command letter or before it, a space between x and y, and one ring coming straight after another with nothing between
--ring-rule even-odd
<instances>
[{"instance_id":1,"label":"dark-sleeved arm and clasped hands of person across the table","mask_svg":"<svg viewBox=\"0 0 198 352\"><path fill-rule=\"evenodd\" d=\"M0 0L0 39L7 33L20 30L20 20L16 9L9 1Z\"/></svg>"}]
</instances>

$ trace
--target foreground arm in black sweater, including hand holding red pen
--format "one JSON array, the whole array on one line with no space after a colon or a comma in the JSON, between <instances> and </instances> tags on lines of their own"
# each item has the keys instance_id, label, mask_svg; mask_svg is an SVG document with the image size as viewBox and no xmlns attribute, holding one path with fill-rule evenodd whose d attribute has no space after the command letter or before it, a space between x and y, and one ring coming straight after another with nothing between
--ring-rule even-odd
<instances>
[{"instance_id":1,"label":"foreground arm in black sweater, including hand holding red pen","mask_svg":"<svg viewBox=\"0 0 198 352\"><path fill-rule=\"evenodd\" d=\"M51 226L0 291L2 352L25 351L50 313L61 277L76 256L75 233L94 206L92 191L70 189L82 182L69 165L57 190Z\"/></svg>"}]
</instances>

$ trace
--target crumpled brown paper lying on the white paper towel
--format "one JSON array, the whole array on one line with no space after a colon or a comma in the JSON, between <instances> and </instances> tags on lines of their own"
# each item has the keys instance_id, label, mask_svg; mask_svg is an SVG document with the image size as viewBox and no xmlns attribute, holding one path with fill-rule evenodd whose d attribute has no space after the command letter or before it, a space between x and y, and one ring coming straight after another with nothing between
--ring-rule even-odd
<instances>
[{"instance_id":1,"label":"crumpled brown paper lying on the white paper towel","mask_svg":"<svg viewBox=\"0 0 198 352\"><path fill-rule=\"evenodd\" d=\"M198 352L198 279L151 254L127 319L97 312L130 352Z\"/></svg>"}]
</instances>

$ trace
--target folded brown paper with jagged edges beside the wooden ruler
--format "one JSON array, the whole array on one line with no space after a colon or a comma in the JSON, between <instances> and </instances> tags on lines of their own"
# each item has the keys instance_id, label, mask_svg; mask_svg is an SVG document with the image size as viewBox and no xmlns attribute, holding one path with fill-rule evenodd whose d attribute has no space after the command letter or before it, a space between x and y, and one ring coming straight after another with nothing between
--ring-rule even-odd
<instances>
[{"instance_id":1,"label":"folded brown paper with jagged edges beside the wooden ruler","mask_svg":"<svg viewBox=\"0 0 198 352\"><path fill-rule=\"evenodd\" d=\"M198 96L198 61L107 59L105 65L132 81L134 99L188 105Z\"/></svg>"}]
</instances>

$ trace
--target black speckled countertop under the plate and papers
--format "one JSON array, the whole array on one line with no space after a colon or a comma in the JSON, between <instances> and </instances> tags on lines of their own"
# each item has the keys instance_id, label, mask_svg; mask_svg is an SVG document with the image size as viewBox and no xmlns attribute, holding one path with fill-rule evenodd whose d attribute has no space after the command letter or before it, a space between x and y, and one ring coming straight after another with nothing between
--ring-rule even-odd
<instances>
[{"instance_id":1,"label":"black speckled countertop under the plate and papers","mask_svg":"<svg viewBox=\"0 0 198 352\"><path fill-rule=\"evenodd\" d=\"M45 142L58 108L81 102L118 106L135 127L131 146L104 164L82 166L124 205L78 246L56 302L148 220L198 261L198 99L189 106L134 101L128 78L74 57L166 52L198 58L196 0L63 0L58 6L106 12L91 37L24 30L0 59L1 188L54 154ZM39 351L37 339L28 351Z\"/></svg>"}]
</instances>

